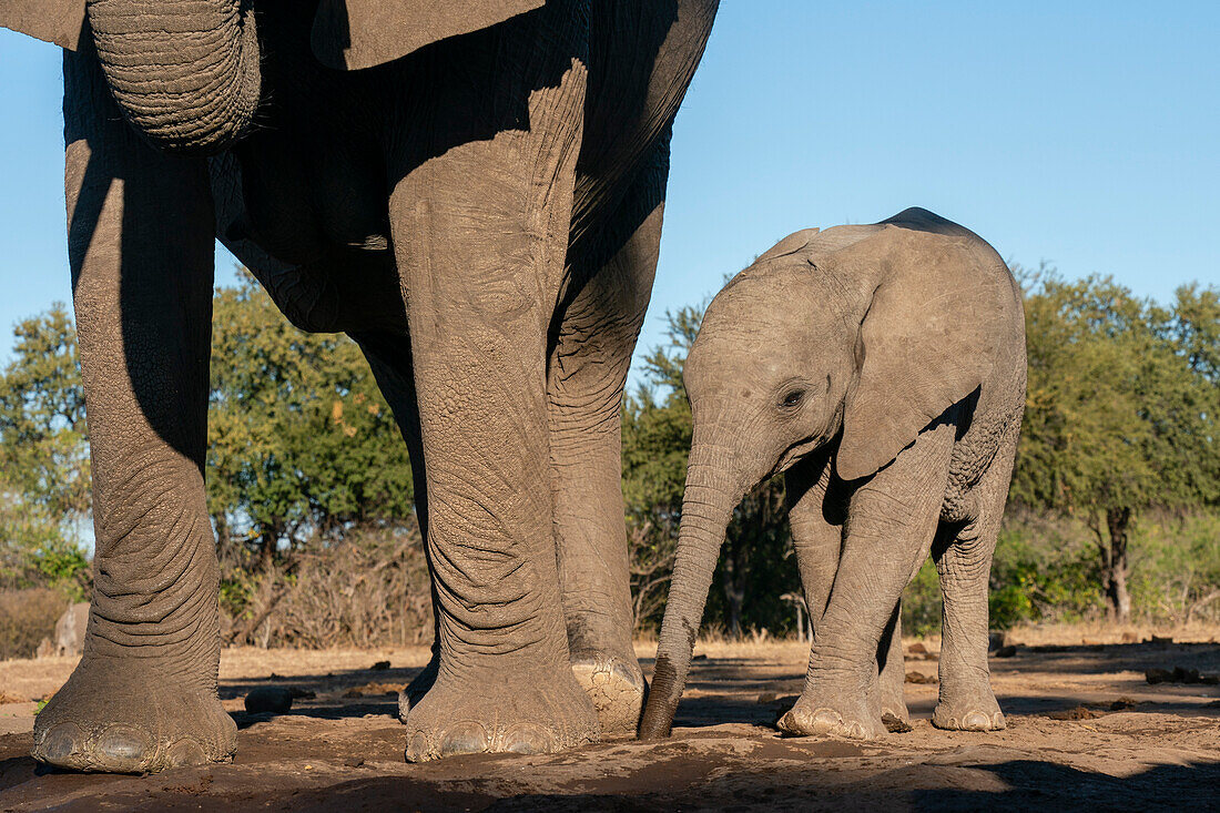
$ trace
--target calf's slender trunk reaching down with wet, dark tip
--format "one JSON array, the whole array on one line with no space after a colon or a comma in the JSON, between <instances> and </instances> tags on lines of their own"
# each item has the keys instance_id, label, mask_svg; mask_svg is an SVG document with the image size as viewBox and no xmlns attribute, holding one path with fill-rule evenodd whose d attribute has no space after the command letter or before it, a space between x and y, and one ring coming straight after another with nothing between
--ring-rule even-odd
<instances>
[{"instance_id":1,"label":"calf's slender trunk reaching down with wet, dark tip","mask_svg":"<svg viewBox=\"0 0 1220 813\"><path fill-rule=\"evenodd\" d=\"M711 438L723 438L725 432L710 430L708 439L700 435L704 433L697 425L682 497L673 577L656 647L656 670L639 724L639 736L644 740L670 735L725 531L737 503L753 485L749 476L741 476L741 455L714 444Z\"/></svg>"}]
</instances>

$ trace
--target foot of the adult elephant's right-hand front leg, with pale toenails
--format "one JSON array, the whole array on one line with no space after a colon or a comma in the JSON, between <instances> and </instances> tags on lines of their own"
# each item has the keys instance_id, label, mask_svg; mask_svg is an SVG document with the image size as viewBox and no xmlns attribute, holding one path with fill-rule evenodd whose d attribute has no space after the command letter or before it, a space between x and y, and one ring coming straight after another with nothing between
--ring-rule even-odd
<instances>
[{"instance_id":1,"label":"foot of the adult elephant's right-hand front leg, with pale toenails","mask_svg":"<svg viewBox=\"0 0 1220 813\"><path fill-rule=\"evenodd\" d=\"M593 702L572 674L443 674L406 715L406 761L462 753L555 753L598 739Z\"/></svg>"}]
</instances>

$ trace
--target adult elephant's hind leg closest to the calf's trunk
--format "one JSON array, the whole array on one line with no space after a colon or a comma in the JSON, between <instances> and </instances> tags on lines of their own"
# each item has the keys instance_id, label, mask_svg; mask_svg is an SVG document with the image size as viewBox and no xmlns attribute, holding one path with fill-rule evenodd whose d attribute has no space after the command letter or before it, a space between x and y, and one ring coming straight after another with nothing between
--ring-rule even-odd
<instances>
[{"instance_id":1,"label":"adult elephant's hind leg closest to the calf's trunk","mask_svg":"<svg viewBox=\"0 0 1220 813\"><path fill-rule=\"evenodd\" d=\"M572 671L610 735L636 731L647 690L632 646L620 408L656 273L667 171L665 138L615 212L569 253L572 282L548 376Z\"/></svg>"}]
</instances>

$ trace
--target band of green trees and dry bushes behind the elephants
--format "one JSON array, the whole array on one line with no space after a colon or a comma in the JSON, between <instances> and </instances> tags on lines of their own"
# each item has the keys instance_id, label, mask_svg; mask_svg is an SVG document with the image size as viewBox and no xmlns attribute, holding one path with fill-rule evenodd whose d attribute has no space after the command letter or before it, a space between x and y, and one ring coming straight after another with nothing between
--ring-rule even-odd
<instances>
[{"instance_id":1,"label":"band of green trees and dry bushes behind the elephants","mask_svg":"<svg viewBox=\"0 0 1220 813\"><path fill-rule=\"evenodd\" d=\"M993 625L1220 618L1220 291L1187 284L1160 305L1108 277L1014 270L1028 396ZM681 372L702 315L666 314L667 342L622 406L640 631L660 623L672 566L691 444ZM55 305L15 336L0 376L0 591L79 599L92 498L76 334ZM206 481L229 642L431 640L410 465L389 406L354 342L298 331L248 273L216 291ZM793 634L799 594L776 479L734 513L705 624ZM938 627L930 564L903 616L913 634Z\"/></svg>"}]
</instances>

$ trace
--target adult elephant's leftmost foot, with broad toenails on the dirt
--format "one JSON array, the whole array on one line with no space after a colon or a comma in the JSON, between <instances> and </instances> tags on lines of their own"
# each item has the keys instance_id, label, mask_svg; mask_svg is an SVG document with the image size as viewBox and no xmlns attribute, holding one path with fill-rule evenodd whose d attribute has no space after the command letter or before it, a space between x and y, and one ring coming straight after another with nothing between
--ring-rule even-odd
<instances>
[{"instance_id":1,"label":"adult elephant's leftmost foot, with broad toenails on the dirt","mask_svg":"<svg viewBox=\"0 0 1220 813\"><path fill-rule=\"evenodd\" d=\"M116 774L228 762L237 725L215 688L193 682L146 658L88 657L35 718L30 754Z\"/></svg>"}]
</instances>

